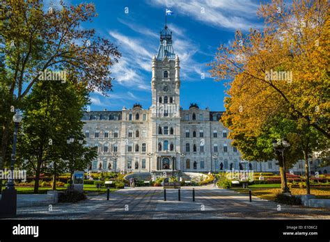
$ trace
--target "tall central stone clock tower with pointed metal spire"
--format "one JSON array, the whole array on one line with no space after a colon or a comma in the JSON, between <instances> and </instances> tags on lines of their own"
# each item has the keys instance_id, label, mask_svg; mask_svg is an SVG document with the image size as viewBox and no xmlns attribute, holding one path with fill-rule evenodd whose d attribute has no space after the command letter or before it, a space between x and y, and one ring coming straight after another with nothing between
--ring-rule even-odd
<instances>
[{"instance_id":1,"label":"tall central stone clock tower with pointed metal spire","mask_svg":"<svg viewBox=\"0 0 330 242\"><path fill-rule=\"evenodd\" d=\"M158 54L152 57L152 170L180 169L180 60L172 32L160 32Z\"/></svg>"}]
</instances>

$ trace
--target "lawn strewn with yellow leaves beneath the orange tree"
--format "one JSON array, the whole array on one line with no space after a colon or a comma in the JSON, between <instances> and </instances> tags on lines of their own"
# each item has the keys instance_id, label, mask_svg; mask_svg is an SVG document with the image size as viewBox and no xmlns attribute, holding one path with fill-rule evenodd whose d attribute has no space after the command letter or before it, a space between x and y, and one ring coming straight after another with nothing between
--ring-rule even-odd
<instances>
[{"instance_id":1,"label":"lawn strewn with yellow leaves beneath the orange tree","mask_svg":"<svg viewBox=\"0 0 330 242\"><path fill-rule=\"evenodd\" d=\"M261 184L260 184L261 185ZM264 184L262 184L264 185ZM265 184L268 185L268 184ZM269 184L274 185L274 184ZM237 191L239 193L244 193L246 195L249 194L249 190L252 191L252 195L256 195L257 197L267 199L267 200L274 200L277 193L281 193L281 188L262 188L262 187L251 187L247 189L243 188L231 188L234 191ZM292 195L304 195L306 194L306 189L301 188L291 188ZM330 188L311 188L311 194L316 195L316 198L322 198L322 199L330 199Z\"/></svg>"}]
</instances>

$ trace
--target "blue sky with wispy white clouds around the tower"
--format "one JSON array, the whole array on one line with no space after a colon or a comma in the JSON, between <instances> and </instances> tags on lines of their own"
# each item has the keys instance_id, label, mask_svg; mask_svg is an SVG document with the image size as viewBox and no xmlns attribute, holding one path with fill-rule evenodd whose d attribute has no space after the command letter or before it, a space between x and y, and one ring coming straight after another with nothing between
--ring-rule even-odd
<instances>
[{"instance_id":1,"label":"blue sky with wispy white clouds around the tower","mask_svg":"<svg viewBox=\"0 0 330 242\"><path fill-rule=\"evenodd\" d=\"M56 4L57 0L48 0ZM67 0L67 3L81 1ZM256 16L259 1L252 0L94 0L98 17L84 27L109 38L123 54L113 66L113 92L110 97L91 93L92 111L119 111L139 102L151 106L151 58L157 54L159 31L164 28L166 8L168 28L173 32L173 48L181 65L180 102L184 109L191 102L211 111L224 111L223 83L210 78L207 63L214 59L219 45L230 45L235 30L260 28ZM128 10L128 13L127 13ZM126 12L126 13L125 13ZM202 79L202 74L205 79Z\"/></svg>"}]
</instances>

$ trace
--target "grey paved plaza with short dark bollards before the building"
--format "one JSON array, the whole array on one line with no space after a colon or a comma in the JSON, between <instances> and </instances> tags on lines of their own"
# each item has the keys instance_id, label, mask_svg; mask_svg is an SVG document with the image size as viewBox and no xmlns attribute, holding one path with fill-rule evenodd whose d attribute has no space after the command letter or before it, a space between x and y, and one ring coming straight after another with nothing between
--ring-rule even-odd
<instances>
[{"instance_id":1,"label":"grey paved plaza with short dark bollards before the building","mask_svg":"<svg viewBox=\"0 0 330 242\"><path fill-rule=\"evenodd\" d=\"M212 185L167 189L162 187L125 188L88 197L74 204L17 209L17 219L330 219L330 209L315 209L278 204Z\"/></svg>"}]
</instances>

